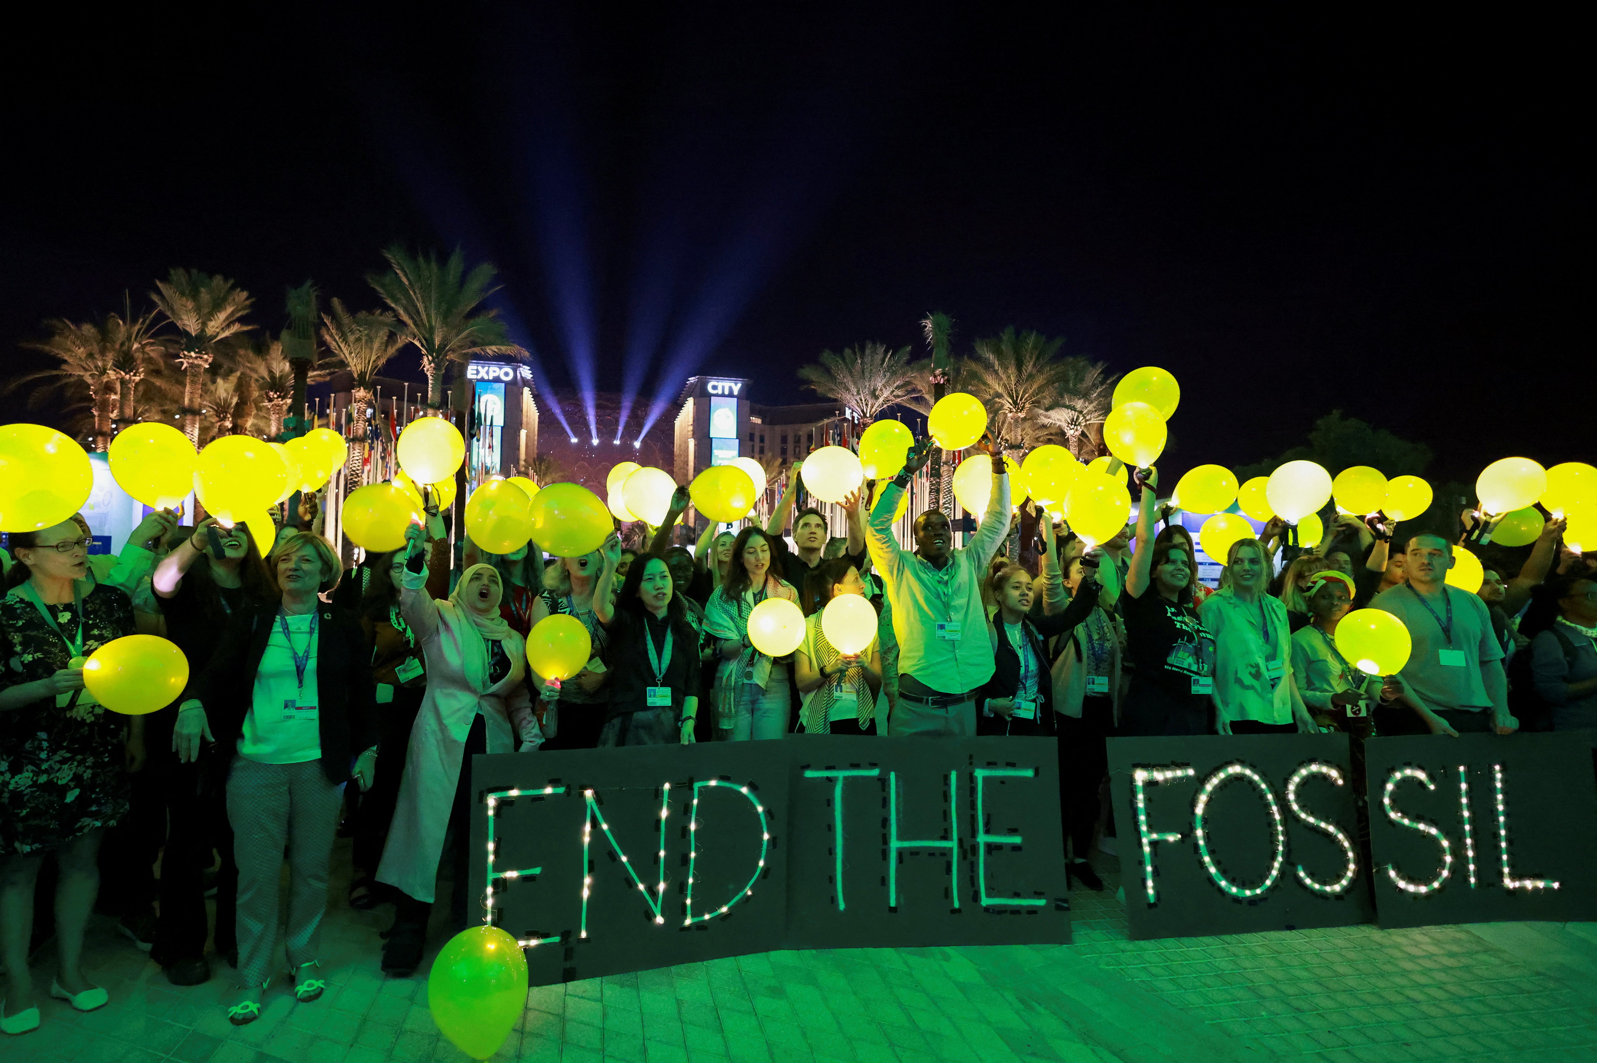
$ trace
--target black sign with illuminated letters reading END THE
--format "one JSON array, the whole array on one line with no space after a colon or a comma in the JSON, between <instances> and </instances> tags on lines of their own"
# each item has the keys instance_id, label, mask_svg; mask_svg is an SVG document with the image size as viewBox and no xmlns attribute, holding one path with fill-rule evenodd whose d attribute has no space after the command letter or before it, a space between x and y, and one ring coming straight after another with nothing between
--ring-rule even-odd
<instances>
[{"instance_id":1,"label":"black sign with illuminated letters reading END THE","mask_svg":"<svg viewBox=\"0 0 1597 1063\"><path fill-rule=\"evenodd\" d=\"M1049 739L473 760L473 891L533 985L776 948L1068 943Z\"/></svg>"}]
</instances>

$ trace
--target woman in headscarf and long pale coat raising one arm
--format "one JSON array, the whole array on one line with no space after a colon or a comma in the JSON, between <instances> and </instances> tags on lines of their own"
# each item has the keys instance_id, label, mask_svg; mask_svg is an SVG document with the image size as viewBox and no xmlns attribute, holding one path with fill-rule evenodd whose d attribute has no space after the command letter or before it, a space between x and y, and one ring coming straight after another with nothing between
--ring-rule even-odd
<instances>
[{"instance_id":1,"label":"woman in headscarf and long pale coat raising one arm","mask_svg":"<svg viewBox=\"0 0 1597 1063\"><path fill-rule=\"evenodd\" d=\"M410 729L404 782L377 881L399 891L383 945L383 972L409 977L422 962L434 879L455 871L452 926L466 926L473 753L535 750L543 742L527 694L527 650L500 616L503 586L492 565L473 565L447 602L426 594L420 525L406 533L399 614L426 654L426 696Z\"/></svg>"}]
</instances>

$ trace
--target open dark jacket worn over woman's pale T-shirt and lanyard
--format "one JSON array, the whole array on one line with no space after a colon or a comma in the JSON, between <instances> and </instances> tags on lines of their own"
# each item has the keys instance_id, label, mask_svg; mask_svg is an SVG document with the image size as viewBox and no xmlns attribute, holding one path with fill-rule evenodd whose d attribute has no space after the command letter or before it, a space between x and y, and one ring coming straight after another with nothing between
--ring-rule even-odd
<instances>
[{"instance_id":1,"label":"open dark jacket worn over woman's pale T-shirt and lanyard","mask_svg":"<svg viewBox=\"0 0 1597 1063\"><path fill-rule=\"evenodd\" d=\"M276 602L233 613L216 654L192 685L190 696L204 705L224 765L233 763L276 616ZM321 769L329 782L345 782L355 757L377 745L372 666L359 618L326 603L316 629L316 697Z\"/></svg>"}]
</instances>

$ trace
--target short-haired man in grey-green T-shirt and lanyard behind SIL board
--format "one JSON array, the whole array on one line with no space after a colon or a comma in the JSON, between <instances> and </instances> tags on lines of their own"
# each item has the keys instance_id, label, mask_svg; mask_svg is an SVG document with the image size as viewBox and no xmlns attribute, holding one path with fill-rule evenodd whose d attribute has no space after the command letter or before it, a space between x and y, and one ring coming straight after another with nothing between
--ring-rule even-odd
<instances>
[{"instance_id":1,"label":"short-haired man in grey-green T-shirt and lanyard behind SIL board","mask_svg":"<svg viewBox=\"0 0 1597 1063\"><path fill-rule=\"evenodd\" d=\"M1453 547L1440 535L1409 539L1402 584L1370 602L1401 619L1413 640L1402 677L1410 694L1455 731L1511 734L1519 721L1508 710L1503 646L1485 602L1448 587Z\"/></svg>"}]
</instances>

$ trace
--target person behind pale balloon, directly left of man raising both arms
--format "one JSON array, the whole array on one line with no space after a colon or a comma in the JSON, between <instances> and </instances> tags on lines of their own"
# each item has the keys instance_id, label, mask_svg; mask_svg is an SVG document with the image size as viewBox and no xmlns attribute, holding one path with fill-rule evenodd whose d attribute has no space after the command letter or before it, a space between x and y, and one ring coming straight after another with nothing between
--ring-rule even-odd
<instances>
[{"instance_id":1,"label":"person behind pale balloon, directly left of man raising both arms","mask_svg":"<svg viewBox=\"0 0 1597 1063\"><path fill-rule=\"evenodd\" d=\"M835 613L838 619L834 624L842 622L856 643L866 642L864 648L846 646L853 653L840 653L826 634L827 607L842 595L851 595L864 607L851 614L842 608ZM803 696L798 729L803 734L875 734L882 654L877 650L877 610L866 600L859 568L848 557L821 562L805 576L805 603L810 614L805 618L803 645L794 653L794 682Z\"/></svg>"}]
</instances>

